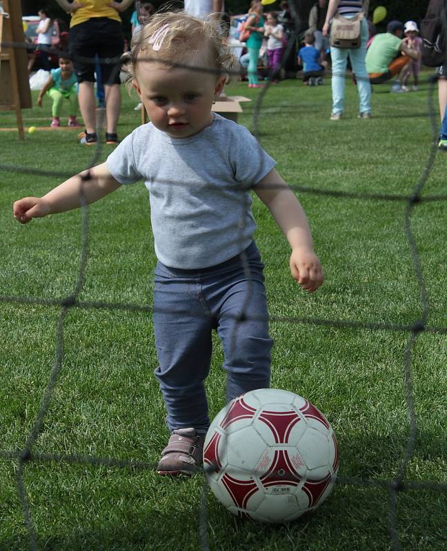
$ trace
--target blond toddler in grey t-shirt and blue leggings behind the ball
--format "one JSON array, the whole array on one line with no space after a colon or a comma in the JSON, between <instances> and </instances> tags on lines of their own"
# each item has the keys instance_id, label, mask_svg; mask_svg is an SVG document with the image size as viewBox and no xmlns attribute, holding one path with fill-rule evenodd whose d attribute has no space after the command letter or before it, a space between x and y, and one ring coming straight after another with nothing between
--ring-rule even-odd
<instances>
[{"instance_id":1,"label":"blond toddler in grey t-shirt and blue leggings behind the ball","mask_svg":"<svg viewBox=\"0 0 447 551\"><path fill-rule=\"evenodd\" d=\"M324 280L306 214L275 160L246 127L211 112L236 66L217 21L155 14L123 57L128 85L150 123L137 127L105 163L13 207L14 218L25 224L145 180L158 260L155 375L171 433L160 475L192 475L201 467L213 329L224 350L228 401L270 386L272 339L250 190L284 232L301 289L312 293Z\"/></svg>"}]
</instances>

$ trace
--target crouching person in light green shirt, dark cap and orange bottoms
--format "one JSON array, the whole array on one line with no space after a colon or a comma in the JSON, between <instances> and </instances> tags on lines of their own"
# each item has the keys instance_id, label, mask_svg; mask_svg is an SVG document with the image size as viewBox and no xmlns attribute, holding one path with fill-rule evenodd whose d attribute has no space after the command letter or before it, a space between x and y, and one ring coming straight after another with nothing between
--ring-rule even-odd
<instances>
[{"instance_id":1,"label":"crouching person in light green shirt, dark cap and orange bottoms","mask_svg":"<svg viewBox=\"0 0 447 551\"><path fill-rule=\"evenodd\" d=\"M404 92L401 77L407 72L410 61L418 61L421 54L402 40L403 34L404 23L390 21L386 32L376 34L371 41L365 59L371 84L382 84L397 75L391 92Z\"/></svg>"}]
</instances>

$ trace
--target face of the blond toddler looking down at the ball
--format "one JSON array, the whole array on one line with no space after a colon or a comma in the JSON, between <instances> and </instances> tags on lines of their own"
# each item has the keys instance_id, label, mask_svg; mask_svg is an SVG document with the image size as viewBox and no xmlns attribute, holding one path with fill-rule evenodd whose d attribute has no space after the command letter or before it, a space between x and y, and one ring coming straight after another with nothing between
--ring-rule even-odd
<instances>
[{"instance_id":1,"label":"face of the blond toddler looking down at the ball","mask_svg":"<svg viewBox=\"0 0 447 551\"><path fill-rule=\"evenodd\" d=\"M172 138L189 138L211 124L212 102L224 83L225 77L212 73L143 61L134 86L156 128Z\"/></svg>"}]
</instances>

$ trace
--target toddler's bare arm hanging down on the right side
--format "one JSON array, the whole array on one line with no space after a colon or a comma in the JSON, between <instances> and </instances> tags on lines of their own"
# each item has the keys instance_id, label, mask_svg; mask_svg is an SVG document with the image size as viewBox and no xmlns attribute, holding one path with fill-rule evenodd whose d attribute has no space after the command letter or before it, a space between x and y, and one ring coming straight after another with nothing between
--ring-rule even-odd
<instances>
[{"instance_id":1,"label":"toddler's bare arm hanging down on the right side","mask_svg":"<svg viewBox=\"0 0 447 551\"><path fill-rule=\"evenodd\" d=\"M319 258L313 250L306 214L286 182L272 169L253 188L286 236L292 253L290 271L301 289L316 291L324 281Z\"/></svg>"}]
</instances>

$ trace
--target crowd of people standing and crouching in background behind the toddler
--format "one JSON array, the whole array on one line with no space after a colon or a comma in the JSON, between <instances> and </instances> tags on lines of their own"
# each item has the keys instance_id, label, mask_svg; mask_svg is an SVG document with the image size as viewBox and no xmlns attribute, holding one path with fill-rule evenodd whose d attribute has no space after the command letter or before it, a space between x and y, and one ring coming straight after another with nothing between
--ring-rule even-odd
<instances>
[{"instance_id":1,"label":"crowd of people standing and crouching in background behind the toddler","mask_svg":"<svg viewBox=\"0 0 447 551\"><path fill-rule=\"evenodd\" d=\"M85 129L79 142L95 145L98 141L95 103L95 82L99 103L106 107L105 141L118 143L117 122L121 111L121 80L117 64L103 60L118 60L123 54L125 39L121 26L121 12L134 6L130 19L132 37L150 21L155 14L152 3L144 0L99 0L95 4L81 1L57 0L59 6L70 14L69 52L72 73L65 69L70 59L61 58L59 69L51 70L48 81L39 95L52 101L52 127L60 125L63 99L70 105L69 124L78 125L77 105ZM279 10L264 12L261 0L251 0L248 13L240 23L239 36L244 32L244 51L239 48L239 63L242 78L248 87L264 86L265 80L278 84L287 76L302 75L304 85L321 85L324 77L330 76L332 89L331 121L341 120L344 113L346 74L352 72L359 96L359 118L371 116L372 85L392 81L390 92L403 93L419 90L421 70L421 38L415 21L389 21L385 32L377 32L368 17L368 0L317 0L308 14L308 28L296 29L288 2L281 1ZM95 7L92 7L95 6ZM224 0L185 0L184 12L199 19L226 20ZM51 19L48 10L39 10L38 48L41 61L48 67ZM333 21L359 21L359 43L352 48L331 45L330 34ZM227 18L230 19L229 17ZM221 25L224 26L224 25ZM227 28L228 31L228 28ZM294 33L296 31L296 33ZM229 43L228 32L224 40ZM290 42L292 44L290 45ZM287 45L289 44L289 48ZM236 52L236 48L235 48ZM245 53L244 53L245 52ZM86 61L95 58L101 63ZM31 61L30 61L31 63ZM55 72L56 71L56 72ZM447 71L445 71L447 72ZM74 76L73 76L74 75ZM444 83L441 67L439 72L440 109L444 106ZM73 79L77 79L74 87ZM446 87L447 88L447 87ZM77 98L74 97L77 90ZM101 96L101 97L100 97ZM135 110L141 109L141 102ZM442 114L442 113L441 113ZM444 115L441 116L444 118ZM446 123L447 129L447 123ZM444 134L443 134L444 135ZM447 136L447 132L445 133ZM439 147L447 149L442 138Z\"/></svg>"}]
</instances>

